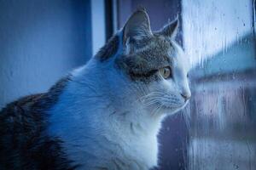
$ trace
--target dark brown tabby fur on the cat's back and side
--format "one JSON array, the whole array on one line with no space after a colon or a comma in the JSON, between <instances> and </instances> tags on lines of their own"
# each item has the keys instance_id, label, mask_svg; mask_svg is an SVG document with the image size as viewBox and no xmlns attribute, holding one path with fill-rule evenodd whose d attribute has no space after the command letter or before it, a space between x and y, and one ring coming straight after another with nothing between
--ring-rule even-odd
<instances>
[{"instance_id":1,"label":"dark brown tabby fur on the cat's back and side","mask_svg":"<svg viewBox=\"0 0 256 170\"><path fill-rule=\"evenodd\" d=\"M61 91L57 82L45 94L18 99L0 111L0 169L73 169L61 140L45 133L47 110Z\"/></svg>"}]
</instances>

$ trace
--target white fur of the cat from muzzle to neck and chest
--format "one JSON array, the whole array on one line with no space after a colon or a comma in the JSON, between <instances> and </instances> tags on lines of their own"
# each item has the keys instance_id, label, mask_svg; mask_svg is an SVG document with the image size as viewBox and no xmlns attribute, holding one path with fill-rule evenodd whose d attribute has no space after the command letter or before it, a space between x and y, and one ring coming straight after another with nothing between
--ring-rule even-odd
<instances>
[{"instance_id":1,"label":"white fur of the cat from muzzle to neck and chest","mask_svg":"<svg viewBox=\"0 0 256 170\"><path fill-rule=\"evenodd\" d=\"M177 55L183 51L177 48ZM49 134L63 141L67 156L80 169L146 170L157 166L157 134L166 115L186 104L186 69L173 60L177 81L149 85L131 82L113 59L95 58L73 71L72 81L49 111ZM176 74L177 72L177 74ZM157 100L159 104L155 102Z\"/></svg>"}]
</instances>

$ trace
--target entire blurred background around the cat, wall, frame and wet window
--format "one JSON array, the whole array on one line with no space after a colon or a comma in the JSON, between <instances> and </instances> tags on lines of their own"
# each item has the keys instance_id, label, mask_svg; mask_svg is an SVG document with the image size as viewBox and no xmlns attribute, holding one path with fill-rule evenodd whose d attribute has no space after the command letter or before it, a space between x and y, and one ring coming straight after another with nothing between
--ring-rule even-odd
<instances>
[{"instance_id":1,"label":"entire blurred background around the cat, wall, frame and wet window","mask_svg":"<svg viewBox=\"0 0 256 170\"><path fill-rule=\"evenodd\" d=\"M256 169L255 0L0 0L0 109L84 65L137 7L181 21L192 99L160 131L160 170Z\"/></svg>"}]
</instances>

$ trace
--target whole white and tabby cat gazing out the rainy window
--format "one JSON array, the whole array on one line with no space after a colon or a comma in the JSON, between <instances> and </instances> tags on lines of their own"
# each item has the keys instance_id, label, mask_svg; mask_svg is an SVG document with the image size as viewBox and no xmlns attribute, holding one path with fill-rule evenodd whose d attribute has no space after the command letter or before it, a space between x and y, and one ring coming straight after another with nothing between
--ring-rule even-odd
<instances>
[{"instance_id":1,"label":"whole white and tabby cat gazing out the rainy window","mask_svg":"<svg viewBox=\"0 0 256 170\"><path fill-rule=\"evenodd\" d=\"M161 121L189 102L178 20L151 31L145 9L47 93L0 113L0 169L146 170Z\"/></svg>"}]
</instances>

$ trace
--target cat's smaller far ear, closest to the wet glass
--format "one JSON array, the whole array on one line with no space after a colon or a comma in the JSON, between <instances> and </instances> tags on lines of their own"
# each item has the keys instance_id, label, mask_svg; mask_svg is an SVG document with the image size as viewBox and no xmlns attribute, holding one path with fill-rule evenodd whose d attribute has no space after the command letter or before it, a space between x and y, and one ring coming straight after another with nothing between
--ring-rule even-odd
<instances>
[{"instance_id":1,"label":"cat's smaller far ear, closest to the wet glass","mask_svg":"<svg viewBox=\"0 0 256 170\"><path fill-rule=\"evenodd\" d=\"M167 24L160 30L160 34L165 37L175 38L177 36L179 21L178 18L173 20L171 23Z\"/></svg>"}]
</instances>

